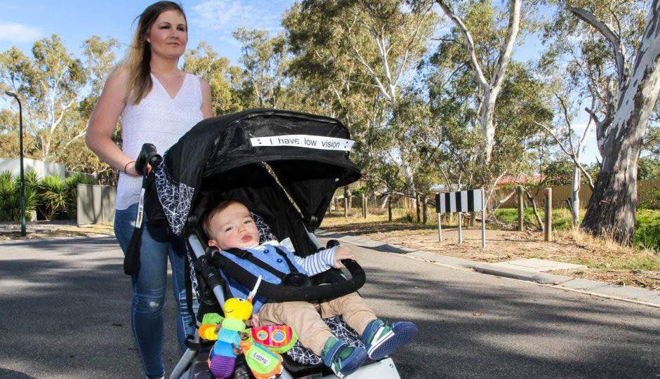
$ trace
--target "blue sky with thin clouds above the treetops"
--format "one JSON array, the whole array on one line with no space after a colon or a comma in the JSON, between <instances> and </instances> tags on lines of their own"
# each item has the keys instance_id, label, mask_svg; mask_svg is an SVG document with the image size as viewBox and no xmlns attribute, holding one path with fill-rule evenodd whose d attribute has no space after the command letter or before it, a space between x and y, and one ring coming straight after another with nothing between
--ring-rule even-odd
<instances>
[{"instance_id":1,"label":"blue sky with thin clouds above the treetops","mask_svg":"<svg viewBox=\"0 0 660 379\"><path fill-rule=\"evenodd\" d=\"M16 0L0 0L0 51L18 46L29 54L34 41L51 34L58 34L78 56L83 41L92 35L103 39L112 36L125 48L137 27L136 17L152 3L152 0L22 0L19 4ZM188 21L188 47L194 48L199 41L205 41L219 55L238 65L240 46L232 32L247 27L275 34L282 30L282 14L293 3L293 0L180 1ZM522 62L534 60L541 51L539 40L532 36L515 48L514 58ZM576 120L579 132L586 126L586 117L581 116ZM592 132L583 162L591 164L596 157L598 149Z\"/></svg>"}]
</instances>

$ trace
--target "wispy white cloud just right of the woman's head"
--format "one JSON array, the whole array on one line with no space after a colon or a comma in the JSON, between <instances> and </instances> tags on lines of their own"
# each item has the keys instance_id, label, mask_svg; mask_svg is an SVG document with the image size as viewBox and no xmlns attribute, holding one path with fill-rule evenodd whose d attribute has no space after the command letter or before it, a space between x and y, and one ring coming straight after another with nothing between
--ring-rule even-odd
<instances>
[{"instance_id":1,"label":"wispy white cloud just right of the woman's head","mask_svg":"<svg viewBox=\"0 0 660 379\"><path fill-rule=\"evenodd\" d=\"M275 34L282 29L282 8L262 1L206 0L192 7L192 24L216 32L216 38L230 41L238 27L265 29Z\"/></svg>"}]
</instances>

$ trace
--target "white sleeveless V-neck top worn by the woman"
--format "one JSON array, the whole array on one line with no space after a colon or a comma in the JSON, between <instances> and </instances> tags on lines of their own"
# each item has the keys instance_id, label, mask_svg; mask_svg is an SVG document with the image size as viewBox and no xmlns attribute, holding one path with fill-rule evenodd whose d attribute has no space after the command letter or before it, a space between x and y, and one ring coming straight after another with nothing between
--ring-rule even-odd
<instances>
[{"instance_id":1,"label":"white sleeveless V-neck top worn by the woman","mask_svg":"<svg viewBox=\"0 0 660 379\"><path fill-rule=\"evenodd\" d=\"M122 150L131 159L138 157L145 142L156 145L157 152L164 154L185 132L204 119L199 77L185 74L183 85L174 98L153 74L151 79L152 89L140 104L126 104L121 112ZM121 210L136 204L141 187L142 178L120 172L115 208Z\"/></svg>"}]
</instances>

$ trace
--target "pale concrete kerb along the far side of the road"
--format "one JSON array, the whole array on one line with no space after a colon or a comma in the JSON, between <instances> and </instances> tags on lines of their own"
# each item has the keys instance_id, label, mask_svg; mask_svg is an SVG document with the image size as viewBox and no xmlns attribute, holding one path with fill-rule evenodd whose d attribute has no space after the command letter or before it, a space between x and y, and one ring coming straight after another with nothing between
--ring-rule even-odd
<instances>
[{"instance_id":1,"label":"pale concrete kerb along the far side of the road","mask_svg":"<svg viewBox=\"0 0 660 379\"><path fill-rule=\"evenodd\" d=\"M483 274L496 275L499 277L508 277L524 281L533 281L538 284L552 286L568 291L588 293L590 295L600 296L602 298L612 298L638 304L649 305L660 308L660 292L637 288L631 286L617 286L607 284L602 281L593 281L587 279L577 279L574 277L565 277L562 275L547 274L545 271L561 270L565 268L583 267L580 265L571 265L561 262L553 262L541 259L524 259L509 262L487 263L475 262L461 258L448 257L429 253L428 251L405 248L396 244L385 244L381 241L374 241L362 237L350 236L348 234L328 232L326 230L317 230L315 234L318 237L337 239L365 248L372 248L386 253L397 253L408 258L424 260L425 262L437 265L452 267L463 270L474 270Z\"/></svg>"}]
</instances>

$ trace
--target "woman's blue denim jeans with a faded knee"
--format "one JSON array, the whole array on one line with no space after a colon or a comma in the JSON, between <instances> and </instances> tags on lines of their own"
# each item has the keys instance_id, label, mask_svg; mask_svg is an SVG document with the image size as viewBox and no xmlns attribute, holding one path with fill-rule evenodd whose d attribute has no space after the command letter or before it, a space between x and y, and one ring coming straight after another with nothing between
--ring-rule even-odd
<instances>
[{"instance_id":1,"label":"woman's blue denim jeans with a faded knee","mask_svg":"<svg viewBox=\"0 0 660 379\"><path fill-rule=\"evenodd\" d=\"M137 214L138 204L133 204L114 215L114 235L124 254L133 235ZM162 309L168 256L172 267L174 299L178 305L176 335L181 349L185 350L185 336L194 333L194 324L185 301L185 240L168 228L155 227L145 220L140 246L140 271L131 278L131 324L147 378L160 378L165 374Z\"/></svg>"}]
</instances>

